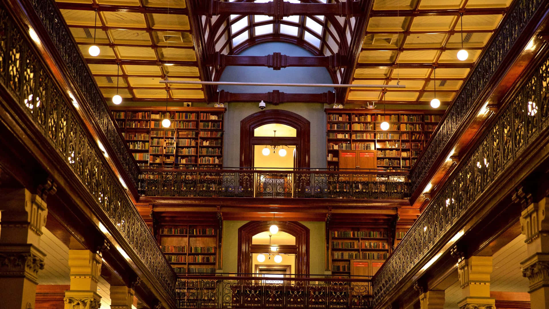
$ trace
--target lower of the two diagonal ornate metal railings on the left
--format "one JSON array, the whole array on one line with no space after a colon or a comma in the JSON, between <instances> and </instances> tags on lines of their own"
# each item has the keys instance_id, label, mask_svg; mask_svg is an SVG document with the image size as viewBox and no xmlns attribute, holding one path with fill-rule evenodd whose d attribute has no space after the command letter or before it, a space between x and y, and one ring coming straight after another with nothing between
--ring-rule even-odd
<instances>
[{"instance_id":1,"label":"lower of the two diagonal ornate metal railings on the left","mask_svg":"<svg viewBox=\"0 0 549 309\"><path fill-rule=\"evenodd\" d=\"M36 125L135 249L150 272L173 294L176 277L137 209L87 134L70 98L57 88L48 67L30 47L0 2L0 86ZM55 156L55 153L51 153Z\"/></svg>"}]
</instances>

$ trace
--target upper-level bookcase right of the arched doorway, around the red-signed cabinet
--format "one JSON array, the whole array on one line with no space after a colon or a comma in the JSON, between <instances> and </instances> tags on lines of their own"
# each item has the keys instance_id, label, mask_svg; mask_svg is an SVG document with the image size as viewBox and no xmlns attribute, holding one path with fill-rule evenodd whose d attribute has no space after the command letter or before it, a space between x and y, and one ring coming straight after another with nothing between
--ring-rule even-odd
<instances>
[{"instance_id":1,"label":"upper-level bookcase right of the arched doorway, around the red-signed cabinet","mask_svg":"<svg viewBox=\"0 0 549 309\"><path fill-rule=\"evenodd\" d=\"M327 108L327 167L340 169L343 151L375 151L378 169L409 169L438 125L443 112ZM389 129L380 124L386 121ZM361 167L362 168L362 167Z\"/></svg>"}]
</instances>

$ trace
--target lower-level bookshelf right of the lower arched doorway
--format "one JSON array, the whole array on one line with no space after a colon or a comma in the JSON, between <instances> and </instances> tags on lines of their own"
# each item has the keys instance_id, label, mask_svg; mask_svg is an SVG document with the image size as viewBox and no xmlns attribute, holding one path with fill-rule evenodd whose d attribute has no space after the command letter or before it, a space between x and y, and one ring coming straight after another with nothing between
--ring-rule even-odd
<instances>
[{"instance_id":1,"label":"lower-level bookshelf right of the lower arched doorway","mask_svg":"<svg viewBox=\"0 0 549 309\"><path fill-rule=\"evenodd\" d=\"M330 228L329 256L332 274L373 275L389 257L388 235L388 227Z\"/></svg>"}]
</instances>

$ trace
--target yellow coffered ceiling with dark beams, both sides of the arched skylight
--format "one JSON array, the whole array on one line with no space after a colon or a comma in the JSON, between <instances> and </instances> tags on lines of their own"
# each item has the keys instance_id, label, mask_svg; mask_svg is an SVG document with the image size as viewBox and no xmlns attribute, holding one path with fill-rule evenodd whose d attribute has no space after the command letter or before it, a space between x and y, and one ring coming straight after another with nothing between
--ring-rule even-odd
<instances>
[{"instance_id":1,"label":"yellow coffered ceiling with dark beams, both sides of the arched skylight","mask_svg":"<svg viewBox=\"0 0 549 309\"><path fill-rule=\"evenodd\" d=\"M285 1L339 3L338 0ZM214 55L219 59L219 54L235 55L256 43L276 40L294 42L317 57L341 57L337 67L327 67L334 82L395 85L400 80L406 89L386 90L387 103L429 104L434 97L433 67L436 67L437 97L442 105L447 105L456 97L512 5L512 0L373 0L368 20L360 25L357 20L361 15L357 13L361 12L356 8L349 9L351 13L345 17L326 14L277 18L226 12L211 14L214 2L57 0L109 102L117 91L117 63L120 63L118 93L125 102L161 102L166 98L166 89L171 101L206 102L212 89L199 85L164 85L159 84L159 80L166 76L178 80L219 79L222 65L212 61ZM230 2L266 3L268 0ZM368 1L356 1L356 7L359 3L363 5ZM97 28L94 29L96 9ZM189 11L201 15L198 23L192 22ZM456 57L461 49L460 13L463 13L463 45L469 52L469 58L463 62ZM193 25L201 29L193 29ZM360 31L361 26L366 29ZM98 57L88 53L94 32L100 48ZM365 36L356 38L362 41L362 48L351 50L353 37L362 33ZM323 58L318 63L329 62ZM238 59L231 60L238 63ZM304 66L310 65L309 62ZM347 78L346 67L354 68ZM346 92L346 103L379 101L383 91L350 89ZM215 99L212 97L210 101L217 101L217 97Z\"/></svg>"}]
</instances>

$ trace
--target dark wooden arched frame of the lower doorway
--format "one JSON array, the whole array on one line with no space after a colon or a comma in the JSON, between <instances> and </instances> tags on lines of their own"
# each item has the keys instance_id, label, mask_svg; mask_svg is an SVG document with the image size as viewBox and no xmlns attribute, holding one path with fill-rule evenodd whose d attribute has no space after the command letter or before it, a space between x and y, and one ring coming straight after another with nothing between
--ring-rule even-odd
<instances>
[{"instance_id":1,"label":"dark wooden arched frame of the lower doorway","mask_svg":"<svg viewBox=\"0 0 549 309\"><path fill-rule=\"evenodd\" d=\"M309 228L299 222L250 221L238 229L238 272L253 273L252 237L262 231L268 231L273 224L283 231L295 236L296 255L295 273L309 273Z\"/></svg>"}]
</instances>

